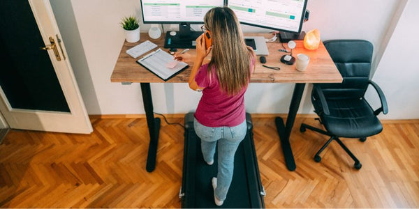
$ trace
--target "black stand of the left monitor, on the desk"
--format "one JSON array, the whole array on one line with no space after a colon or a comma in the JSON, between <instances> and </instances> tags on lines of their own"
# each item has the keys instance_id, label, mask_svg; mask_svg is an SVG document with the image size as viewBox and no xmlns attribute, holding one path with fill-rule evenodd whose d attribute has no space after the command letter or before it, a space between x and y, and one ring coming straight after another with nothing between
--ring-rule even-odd
<instances>
[{"instance_id":1,"label":"black stand of the left monitor, on the desk","mask_svg":"<svg viewBox=\"0 0 419 209\"><path fill-rule=\"evenodd\" d=\"M173 33L175 32L175 33ZM165 48L195 49L196 38L203 34L202 31L191 31L188 23L179 24L179 31L168 31L164 41Z\"/></svg>"}]
</instances>

